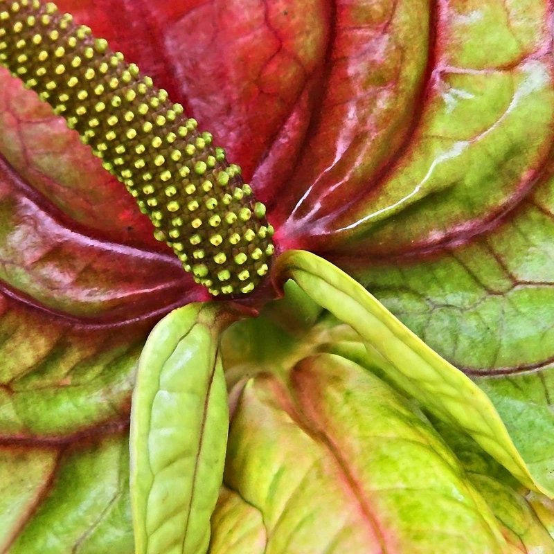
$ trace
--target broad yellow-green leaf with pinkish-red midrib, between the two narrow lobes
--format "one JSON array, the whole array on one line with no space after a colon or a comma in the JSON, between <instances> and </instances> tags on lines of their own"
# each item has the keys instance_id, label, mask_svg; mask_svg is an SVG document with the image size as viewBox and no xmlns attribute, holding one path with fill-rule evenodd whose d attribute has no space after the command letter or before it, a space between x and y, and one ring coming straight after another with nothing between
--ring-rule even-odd
<instances>
[{"instance_id":1,"label":"broad yellow-green leaf with pinkish-red midrib, between the two narrow lobes","mask_svg":"<svg viewBox=\"0 0 554 554\"><path fill-rule=\"evenodd\" d=\"M249 514L252 552L263 538L257 512L268 553L505 552L492 512L425 416L334 355L300 361L288 388L274 375L247 382L224 484L243 501L224 505ZM213 525L214 536L240 536L230 517Z\"/></svg>"}]
</instances>

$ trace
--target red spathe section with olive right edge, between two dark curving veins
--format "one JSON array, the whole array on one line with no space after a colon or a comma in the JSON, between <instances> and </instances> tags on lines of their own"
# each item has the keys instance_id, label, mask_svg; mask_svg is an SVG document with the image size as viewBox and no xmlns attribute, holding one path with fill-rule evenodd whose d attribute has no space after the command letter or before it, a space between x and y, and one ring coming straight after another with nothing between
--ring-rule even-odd
<instances>
[{"instance_id":1,"label":"red spathe section with olive right edge, between two dark curving veins","mask_svg":"<svg viewBox=\"0 0 554 554\"><path fill-rule=\"evenodd\" d=\"M274 206L285 242L327 234L330 214L375 188L368 176L409 136L425 87L433 24L426 0L338 1L334 10L319 112Z\"/></svg>"}]
</instances>

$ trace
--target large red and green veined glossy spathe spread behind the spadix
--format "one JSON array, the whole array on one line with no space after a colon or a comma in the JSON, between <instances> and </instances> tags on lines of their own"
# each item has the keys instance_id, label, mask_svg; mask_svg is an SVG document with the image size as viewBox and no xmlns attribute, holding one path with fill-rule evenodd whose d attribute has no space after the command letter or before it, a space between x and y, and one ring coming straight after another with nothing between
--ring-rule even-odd
<instances>
[{"instance_id":1,"label":"large red and green veined glossy spathe spread behind the spadix","mask_svg":"<svg viewBox=\"0 0 554 554\"><path fill-rule=\"evenodd\" d=\"M551 476L550 3L58 4L226 146L280 247L337 262L476 377L533 472ZM4 71L0 157L8 460L125 427L148 332L205 295L120 184ZM21 510L17 523L2 511L6 536L30 521Z\"/></svg>"}]
</instances>

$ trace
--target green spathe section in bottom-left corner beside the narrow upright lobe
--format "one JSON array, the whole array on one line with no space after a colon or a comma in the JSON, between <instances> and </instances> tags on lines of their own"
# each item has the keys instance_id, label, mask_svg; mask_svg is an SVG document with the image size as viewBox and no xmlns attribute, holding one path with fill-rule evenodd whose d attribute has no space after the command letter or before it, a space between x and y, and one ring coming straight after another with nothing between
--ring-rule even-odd
<instances>
[{"instance_id":1,"label":"green spathe section in bottom-left corner beside the narrow upright lobe","mask_svg":"<svg viewBox=\"0 0 554 554\"><path fill-rule=\"evenodd\" d=\"M21 518L22 529L17 529L8 552L132 554L127 434L90 438L88 444L62 449L54 458L55 466L48 462L47 477L39 461L49 449L43 448L43 454L39 450L26 456L28 461L33 457L34 467L15 454L12 483L3 481L5 486L17 486L15 491L6 491L15 496L23 483L30 490L35 481L44 479L39 494L33 492L33 505ZM0 517L2 527L7 526L12 512L2 512Z\"/></svg>"}]
</instances>

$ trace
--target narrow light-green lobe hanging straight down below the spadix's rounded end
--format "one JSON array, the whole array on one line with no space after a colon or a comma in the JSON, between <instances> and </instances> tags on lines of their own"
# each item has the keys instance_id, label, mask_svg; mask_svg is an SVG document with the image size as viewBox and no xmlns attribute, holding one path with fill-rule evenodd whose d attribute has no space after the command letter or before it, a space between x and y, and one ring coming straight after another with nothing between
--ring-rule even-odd
<instances>
[{"instance_id":1,"label":"narrow light-green lobe hanging straight down below the spadix's rounded end","mask_svg":"<svg viewBox=\"0 0 554 554\"><path fill-rule=\"evenodd\" d=\"M136 554L208 548L229 425L219 336L232 320L223 304L190 304L145 344L131 416Z\"/></svg>"}]
</instances>

